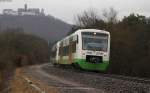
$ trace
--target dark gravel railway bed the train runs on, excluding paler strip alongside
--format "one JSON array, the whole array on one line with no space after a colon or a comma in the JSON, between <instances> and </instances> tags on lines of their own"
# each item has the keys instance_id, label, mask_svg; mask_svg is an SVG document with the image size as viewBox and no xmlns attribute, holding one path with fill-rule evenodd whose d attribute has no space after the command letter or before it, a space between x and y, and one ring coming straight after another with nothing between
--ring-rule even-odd
<instances>
[{"instance_id":1,"label":"dark gravel railway bed the train runs on, excluding paler strip alongside","mask_svg":"<svg viewBox=\"0 0 150 93\"><path fill-rule=\"evenodd\" d=\"M98 73L72 67L54 67L52 64L41 66L41 69L47 74L90 88L101 89L106 93L150 93L150 79L148 78Z\"/></svg>"}]
</instances>

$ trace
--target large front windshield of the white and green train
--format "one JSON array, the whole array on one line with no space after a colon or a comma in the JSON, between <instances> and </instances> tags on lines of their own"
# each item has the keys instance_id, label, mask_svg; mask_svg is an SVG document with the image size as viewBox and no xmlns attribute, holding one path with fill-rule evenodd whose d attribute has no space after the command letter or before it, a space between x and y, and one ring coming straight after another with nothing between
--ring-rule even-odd
<instances>
[{"instance_id":1,"label":"large front windshield of the white and green train","mask_svg":"<svg viewBox=\"0 0 150 93\"><path fill-rule=\"evenodd\" d=\"M84 50L107 51L108 35L82 32L82 47Z\"/></svg>"}]
</instances>

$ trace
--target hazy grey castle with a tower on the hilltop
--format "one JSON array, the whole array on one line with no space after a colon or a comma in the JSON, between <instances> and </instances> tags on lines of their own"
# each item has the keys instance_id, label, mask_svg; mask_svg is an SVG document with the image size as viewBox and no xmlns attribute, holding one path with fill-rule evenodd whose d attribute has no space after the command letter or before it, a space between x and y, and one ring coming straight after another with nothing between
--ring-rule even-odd
<instances>
[{"instance_id":1,"label":"hazy grey castle with a tower on the hilltop","mask_svg":"<svg viewBox=\"0 0 150 93\"><path fill-rule=\"evenodd\" d=\"M24 8L18 8L17 11L13 9L4 9L3 15L14 15L14 16L23 16L23 15L34 15L34 16L44 16L44 9L39 8L28 8L27 4L24 5Z\"/></svg>"}]
</instances>

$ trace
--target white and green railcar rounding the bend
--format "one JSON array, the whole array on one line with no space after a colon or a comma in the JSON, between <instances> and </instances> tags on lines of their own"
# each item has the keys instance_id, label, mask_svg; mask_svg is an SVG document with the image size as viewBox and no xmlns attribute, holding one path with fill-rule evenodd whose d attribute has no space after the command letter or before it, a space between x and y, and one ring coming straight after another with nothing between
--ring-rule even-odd
<instances>
[{"instance_id":1,"label":"white and green railcar rounding the bend","mask_svg":"<svg viewBox=\"0 0 150 93\"><path fill-rule=\"evenodd\" d=\"M52 63L75 65L85 70L105 71L109 66L110 33L80 29L52 47Z\"/></svg>"}]
</instances>

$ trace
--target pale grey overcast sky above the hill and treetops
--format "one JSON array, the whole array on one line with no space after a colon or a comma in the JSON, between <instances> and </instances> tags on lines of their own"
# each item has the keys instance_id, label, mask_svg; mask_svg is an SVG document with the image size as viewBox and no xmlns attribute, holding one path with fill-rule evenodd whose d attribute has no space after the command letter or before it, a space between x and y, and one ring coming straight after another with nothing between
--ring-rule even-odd
<instances>
[{"instance_id":1,"label":"pale grey overcast sky above the hill and treetops","mask_svg":"<svg viewBox=\"0 0 150 93\"><path fill-rule=\"evenodd\" d=\"M27 3L29 8L43 8L46 14L53 15L68 23L74 23L75 15L90 8L100 14L104 9L113 7L121 18L130 13L150 16L150 0L0 0L0 11L7 8L17 10Z\"/></svg>"}]
</instances>

